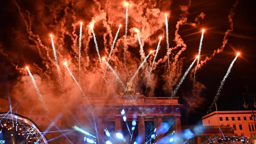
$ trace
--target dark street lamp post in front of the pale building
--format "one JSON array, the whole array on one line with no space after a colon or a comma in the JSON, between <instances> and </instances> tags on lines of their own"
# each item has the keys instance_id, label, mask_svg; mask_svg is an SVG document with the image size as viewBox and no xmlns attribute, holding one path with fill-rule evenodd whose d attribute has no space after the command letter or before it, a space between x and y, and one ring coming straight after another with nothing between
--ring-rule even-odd
<instances>
[{"instance_id":1,"label":"dark street lamp post in front of the pale building","mask_svg":"<svg viewBox=\"0 0 256 144\"><path fill-rule=\"evenodd\" d=\"M243 107L247 109L249 107L249 105L250 105L250 108L252 110L252 105L254 106L254 108L256 108L256 102L255 102L255 98L254 98L255 93L249 92L248 91L248 87L245 87L245 89L246 89L246 92L244 92L242 94L243 95L243 102L244 102L243 103ZM245 97L248 97L249 103L246 103ZM255 116L254 116L253 110L252 110L252 116L253 116L254 124L256 126L256 120L255 120Z\"/></svg>"}]
</instances>

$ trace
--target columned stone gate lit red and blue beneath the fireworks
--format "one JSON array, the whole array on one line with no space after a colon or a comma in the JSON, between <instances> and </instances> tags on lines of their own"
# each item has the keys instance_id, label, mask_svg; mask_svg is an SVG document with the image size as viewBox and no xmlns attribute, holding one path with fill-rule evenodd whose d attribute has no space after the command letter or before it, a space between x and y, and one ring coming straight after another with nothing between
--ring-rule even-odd
<instances>
[{"instance_id":1,"label":"columned stone gate lit red and blue beneath the fireworks","mask_svg":"<svg viewBox=\"0 0 256 144\"><path fill-rule=\"evenodd\" d=\"M115 137L118 132L122 133L129 144L134 144L135 141L144 144L151 137L152 142L166 140L170 135L179 137L182 105L178 103L178 97L145 97L132 91L134 90L131 90L132 94L112 97L84 98L79 121L83 122L89 117L96 123L95 130L98 133L95 136L98 134L100 144L108 140L104 129L111 132L111 137ZM155 138L153 134L156 135Z\"/></svg>"}]
</instances>

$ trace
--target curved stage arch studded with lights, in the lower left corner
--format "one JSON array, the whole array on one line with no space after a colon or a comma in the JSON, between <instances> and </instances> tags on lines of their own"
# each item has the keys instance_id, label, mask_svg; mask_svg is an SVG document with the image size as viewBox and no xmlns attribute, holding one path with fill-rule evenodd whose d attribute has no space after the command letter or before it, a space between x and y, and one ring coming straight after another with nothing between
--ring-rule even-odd
<instances>
[{"instance_id":1,"label":"curved stage arch studded with lights, in the lower left corner","mask_svg":"<svg viewBox=\"0 0 256 144\"><path fill-rule=\"evenodd\" d=\"M0 141L3 144L48 144L32 120L10 112L0 113Z\"/></svg>"}]
</instances>

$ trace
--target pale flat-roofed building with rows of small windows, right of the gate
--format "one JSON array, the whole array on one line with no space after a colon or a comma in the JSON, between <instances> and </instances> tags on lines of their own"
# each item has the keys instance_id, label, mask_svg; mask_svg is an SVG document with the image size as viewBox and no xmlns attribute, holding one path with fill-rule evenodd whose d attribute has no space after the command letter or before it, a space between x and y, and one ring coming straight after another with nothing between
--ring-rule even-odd
<instances>
[{"instance_id":1,"label":"pale flat-roofed building with rows of small windows, right of the gate","mask_svg":"<svg viewBox=\"0 0 256 144\"><path fill-rule=\"evenodd\" d=\"M253 115L252 111L214 111L202 117L202 124L234 127L235 135L256 138L255 112Z\"/></svg>"}]
</instances>

